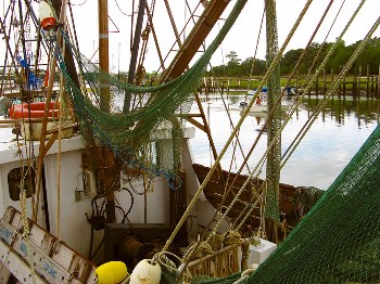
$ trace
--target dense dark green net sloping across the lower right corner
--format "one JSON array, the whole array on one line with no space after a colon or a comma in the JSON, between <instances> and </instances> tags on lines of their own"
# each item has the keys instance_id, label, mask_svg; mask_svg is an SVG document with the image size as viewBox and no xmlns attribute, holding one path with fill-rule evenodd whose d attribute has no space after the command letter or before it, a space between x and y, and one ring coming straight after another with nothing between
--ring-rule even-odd
<instances>
[{"instance_id":1,"label":"dense dark green net sloping across the lower right corner","mask_svg":"<svg viewBox=\"0 0 380 284\"><path fill-rule=\"evenodd\" d=\"M246 283L380 283L380 127Z\"/></svg>"}]
</instances>

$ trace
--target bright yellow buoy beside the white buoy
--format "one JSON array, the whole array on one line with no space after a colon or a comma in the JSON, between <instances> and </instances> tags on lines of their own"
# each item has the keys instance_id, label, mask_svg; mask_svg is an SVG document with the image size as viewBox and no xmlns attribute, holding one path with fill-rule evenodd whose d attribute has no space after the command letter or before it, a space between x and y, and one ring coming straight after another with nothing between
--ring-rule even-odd
<instances>
[{"instance_id":1,"label":"bright yellow buoy beside the white buoy","mask_svg":"<svg viewBox=\"0 0 380 284\"><path fill-rule=\"evenodd\" d=\"M117 284L128 276L127 267L122 261L110 261L96 270L99 284Z\"/></svg>"}]
</instances>

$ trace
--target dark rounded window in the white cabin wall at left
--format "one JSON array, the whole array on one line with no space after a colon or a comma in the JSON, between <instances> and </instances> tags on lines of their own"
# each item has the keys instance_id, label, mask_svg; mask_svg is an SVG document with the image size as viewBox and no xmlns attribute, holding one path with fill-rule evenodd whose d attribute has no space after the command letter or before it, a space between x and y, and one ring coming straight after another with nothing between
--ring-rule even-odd
<instances>
[{"instance_id":1,"label":"dark rounded window in the white cabin wall at left","mask_svg":"<svg viewBox=\"0 0 380 284\"><path fill-rule=\"evenodd\" d=\"M8 186L12 201L20 201L21 181L24 177L24 190L26 190L26 197L30 197L35 193L35 169L29 167L14 168L8 173Z\"/></svg>"}]
</instances>

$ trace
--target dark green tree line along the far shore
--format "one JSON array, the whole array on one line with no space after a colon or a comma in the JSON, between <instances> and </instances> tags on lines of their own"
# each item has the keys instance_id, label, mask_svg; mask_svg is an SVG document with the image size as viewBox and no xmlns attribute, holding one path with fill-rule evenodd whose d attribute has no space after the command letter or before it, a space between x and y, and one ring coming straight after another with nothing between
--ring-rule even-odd
<instances>
[{"instance_id":1,"label":"dark green tree line along the far shore","mask_svg":"<svg viewBox=\"0 0 380 284\"><path fill-rule=\"evenodd\" d=\"M337 49L326 64L326 72L332 70L339 73L344 64L349 61L362 40L353 44L346 46L343 40L338 42ZM299 67L299 74L314 73L322 63L324 59L330 51L332 42L311 44L303 61ZM304 49L295 49L288 51L281 59L281 76L290 75L295 67ZM240 60L235 51L229 52L226 57L229 60L227 64L214 66L206 72L206 76L227 76L227 77L249 77L251 75L264 75L266 72L266 62L264 60L248 57L244 61ZM370 75L379 75L380 65L380 38L372 38L365 47L364 51L357 57L355 64L350 69L349 74L358 75L359 66L362 66L362 75L367 74L367 66ZM312 69L311 69L312 68Z\"/></svg>"}]
</instances>

